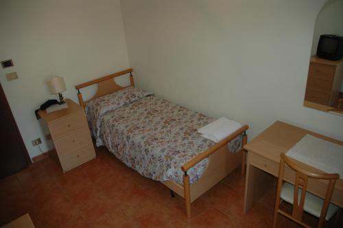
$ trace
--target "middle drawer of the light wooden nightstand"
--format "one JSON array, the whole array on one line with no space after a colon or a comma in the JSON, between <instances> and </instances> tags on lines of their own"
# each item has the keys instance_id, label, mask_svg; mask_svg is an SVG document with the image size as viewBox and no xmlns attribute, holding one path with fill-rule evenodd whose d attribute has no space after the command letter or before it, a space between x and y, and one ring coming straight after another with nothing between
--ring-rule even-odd
<instances>
[{"instance_id":1,"label":"middle drawer of the light wooden nightstand","mask_svg":"<svg viewBox=\"0 0 343 228\"><path fill-rule=\"evenodd\" d=\"M91 142L91 134L88 128L82 128L82 130L78 130L75 133L56 139L54 144L58 155L65 155L87 144L91 144Z\"/></svg>"}]
</instances>

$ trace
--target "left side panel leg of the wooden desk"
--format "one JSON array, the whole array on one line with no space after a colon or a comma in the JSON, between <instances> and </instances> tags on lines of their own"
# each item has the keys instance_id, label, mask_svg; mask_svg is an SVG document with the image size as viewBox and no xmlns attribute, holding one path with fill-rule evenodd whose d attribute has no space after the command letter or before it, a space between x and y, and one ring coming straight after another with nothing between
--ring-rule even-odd
<instances>
[{"instance_id":1,"label":"left side panel leg of the wooden desk","mask_svg":"<svg viewBox=\"0 0 343 228\"><path fill-rule=\"evenodd\" d=\"M250 164L250 152L248 152L244 213L248 212L270 190L273 182L274 176Z\"/></svg>"}]
</instances>

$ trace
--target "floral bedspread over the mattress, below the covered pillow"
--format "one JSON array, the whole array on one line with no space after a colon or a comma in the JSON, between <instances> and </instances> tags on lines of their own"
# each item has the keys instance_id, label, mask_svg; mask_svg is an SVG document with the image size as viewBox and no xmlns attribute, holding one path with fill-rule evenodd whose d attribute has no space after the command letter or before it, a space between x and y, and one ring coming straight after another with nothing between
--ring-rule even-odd
<instances>
[{"instance_id":1,"label":"floral bedspread over the mattress, below the covered pillow","mask_svg":"<svg viewBox=\"0 0 343 228\"><path fill-rule=\"evenodd\" d=\"M197 132L213 120L147 96L103 115L99 142L141 175L183 185L181 166L215 144ZM228 148L235 152L240 145L239 136ZM204 159L187 172L191 183L200 179L207 163L208 159Z\"/></svg>"}]
</instances>

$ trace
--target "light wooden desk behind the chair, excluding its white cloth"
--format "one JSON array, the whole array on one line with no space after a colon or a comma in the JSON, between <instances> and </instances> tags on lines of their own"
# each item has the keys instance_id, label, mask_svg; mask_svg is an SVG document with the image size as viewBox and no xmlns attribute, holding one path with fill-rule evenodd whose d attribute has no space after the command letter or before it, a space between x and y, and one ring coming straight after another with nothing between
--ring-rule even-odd
<instances>
[{"instance_id":1,"label":"light wooden desk behind the chair, excluding its white cloth","mask_svg":"<svg viewBox=\"0 0 343 228\"><path fill-rule=\"evenodd\" d=\"M306 134L343 145L343 141L331 139L310 132L309 130L277 121L244 146L244 149L248 150L244 212L247 212L272 187L275 176L279 174L280 154L287 152L287 150L292 148ZM316 170L316 168L309 167L305 164L303 166ZM286 181L294 183L294 174L295 172L293 170L285 168ZM343 207L342 179L343 176L340 176L340 180L336 182L335 190L331 198L331 203L339 207ZM326 190L327 183L325 181L309 180L309 192L324 198Z\"/></svg>"}]
</instances>

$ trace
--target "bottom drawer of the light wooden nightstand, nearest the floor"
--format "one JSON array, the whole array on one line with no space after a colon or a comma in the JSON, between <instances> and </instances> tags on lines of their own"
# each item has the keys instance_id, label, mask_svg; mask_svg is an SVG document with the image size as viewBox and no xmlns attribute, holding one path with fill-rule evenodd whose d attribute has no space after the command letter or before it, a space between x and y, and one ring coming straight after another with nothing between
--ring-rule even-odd
<instances>
[{"instance_id":1,"label":"bottom drawer of the light wooden nightstand, nearest the floor","mask_svg":"<svg viewBox=\"0 0 343 228\"><path fill-rule=\"evenodd\" d=\"M82 163L89 161L95 157L95 152L93 144L88 144L84 148L75 150L69 154L61 155L60 163L62 165L63 171L71 170L76 166L80 166Z\"/></svg>"}]
</instances>

